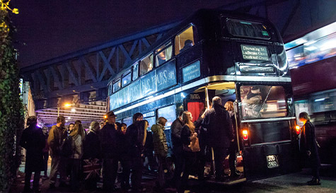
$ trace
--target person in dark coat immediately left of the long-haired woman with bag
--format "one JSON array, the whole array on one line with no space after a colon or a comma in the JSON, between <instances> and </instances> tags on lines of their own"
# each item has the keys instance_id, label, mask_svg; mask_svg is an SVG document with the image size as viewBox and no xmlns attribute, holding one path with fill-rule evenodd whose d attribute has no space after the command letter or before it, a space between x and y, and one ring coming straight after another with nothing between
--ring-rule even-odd
<instances>
[{"instance_id":1,"label":"person in dark coat immediately left of the long-haired woman with bag","mask_svg":"<svg viewBox=\"0 0 336 193\"><path fill-rule=\"evenodd\" d=\"M173 154L175 156L175 171L173 176L173 184L179 187L181 173L183 172L183 144L181 141L181 132L183 128L182 122L183 110L178 113L178 118L170 126L170 140L173 146Z\"/></svg>"}]
</instances>

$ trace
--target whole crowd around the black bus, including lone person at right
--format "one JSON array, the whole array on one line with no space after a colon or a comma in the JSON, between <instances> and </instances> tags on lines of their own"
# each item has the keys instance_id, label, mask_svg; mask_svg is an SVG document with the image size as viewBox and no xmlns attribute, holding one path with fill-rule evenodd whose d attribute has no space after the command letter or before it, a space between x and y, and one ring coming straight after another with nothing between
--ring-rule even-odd
<instances>
[{"instance_id":1,"label":"whole crowd around the black bus, including lone person at right","mask_svg":"<svg viewBox=\"0 0 336 193\"><path fill-rule=\"evenodd\" d=\"M83 129L81 121L69 124L65 129L65 117L57 117L57 124L47 132L47 128L37 127L36 117L29 117L28 128L24 129L21 137L21 146L27 150L25 161L24 192L40 192L40 172L44 171L47 179L47 160L51 157L49 176L50 189L55 189L57 175L58 187L69 187L71 192L77 192L82 187L88 191L97 190L100 181L100 172L103 176L104 192L116 192L115 182L118 177L124 191L146 192L141 186L142 170L144 168L145 144L153 144L155 158L158 161L156 188L172 187L176 192L184 192L187 180L192 172L196 171L198 180L204 181L204 166L209 149L214 156L215 180L228 179L224 173L224 158L229 156L231 177L240 177L236 169L235 159L237 141L233 126L236 120L233 115L233 102L228 101L221 105L221 98L214 97L212 107L204 109L198 119L192 122L192 113L181 111L178 118L171 124L171 149L173 151L173 170L168 156L168 144L164 132L167 119L158 117L156 124L147 131L149 122L137 112L133 115L133 123L127 127L124 123L116 122L116 115L110 111L107 121L103 123L91 122L88 134ZM300 115L301 116L301 115ZM312 124L306 120L303 131L304 139L301 148L308 143L308 129L313 133ZM309 121L309 119L308 119ZM309 127L309 128L308 128ZM149 132L149 134L148 134ZM148 135L148 137L147 137ZM146 141L147 140L147 141ZM148 141L150 140L150 141ZM302 141L301 141L302 142ZM312 142L313 143L313 142ZM315 146L310 146L308 156L315 156ZM315 158L315 157L314 157ZM314 178L310 184L319 184L318 157L315 160ZM118 168L122 172L118 175ZM30 188L30 178L35 172L33 189ZM168 174L170 177L168 177ZM68 183L69 181L69 183ZM81 186L84 185L84 186Z\"/></svg>"}]
</instances>

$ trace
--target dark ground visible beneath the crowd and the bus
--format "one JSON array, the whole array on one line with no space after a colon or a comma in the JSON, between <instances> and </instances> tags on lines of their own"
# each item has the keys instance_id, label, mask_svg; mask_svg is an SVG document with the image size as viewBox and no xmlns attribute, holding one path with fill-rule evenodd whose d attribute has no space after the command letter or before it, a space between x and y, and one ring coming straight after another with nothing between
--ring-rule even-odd
<instances>
[{"instance_id":1,"label":"dark ground visible beneath the crowd and the bus","mask_svg":"<svg viewBox=\"0 0 336 193\"><path fill-rule=\"evenodd\" d=\"M50 174L50 161L48 162L48 171L47 175ZM22 192L24 186L24 162L21 164L18 177L13 183L9 192ZM44 172L41 172L41 176ZM253 182L243 182L237 185L220 185L214 183L205 183L199 184L197 180L189 180L188 185L189 189L185 192L199 192L199 193L216 193L216 192L298 192L298 193L308 193L308 192L336 192L336 168L331 167L330 165L324 165L321 170L321 186L311 187L306 185L306 181L311 179L311 170L303 169L301 172L297 172L289 175L282 175L278 177L270 177L265 180L257 180ZM30 181L33 185L33 177ZM146 188L145 192L175 192L175 189L166 188L166 189L156 189L156 173L149 172L148 170L143 173L141 185ZM98 183L98 187L102 187L102 183ZM116 183L117 192L127 192L120 189L120 182ZM49 179L40 178L40 189L42 192L69 192L69 188L58 187L56 184L55 189L49 189ZM83 188L81 188L83 189ZM87 192L79 189L78 192ZM100 192L95 191L95 192Z\"/></svg>"}]
</instances>

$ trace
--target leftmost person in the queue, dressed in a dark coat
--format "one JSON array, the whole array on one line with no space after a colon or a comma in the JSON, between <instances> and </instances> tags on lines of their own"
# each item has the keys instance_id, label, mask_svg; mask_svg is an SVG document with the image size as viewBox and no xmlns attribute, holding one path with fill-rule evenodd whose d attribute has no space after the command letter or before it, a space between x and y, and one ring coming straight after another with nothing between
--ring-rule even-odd
<instances>
[{"instance_id":1,"label":"leftmost person in the queue, dressed in a dark coat","mask_svg":"<svg viewBox=\"0 0 336 193\"><path fill-rule=\"evenodd\" d=\"M23 192L40 192L39 181L40 172L43 170L42 149L45 147L45 136L40 127L36 127L37 119L35 116L28 117L28 127L23 130L20 146L26 149L25 157L25 187ZM34 174L33 189L30 189L30 178Z\"/></svg>"}]
</instances>

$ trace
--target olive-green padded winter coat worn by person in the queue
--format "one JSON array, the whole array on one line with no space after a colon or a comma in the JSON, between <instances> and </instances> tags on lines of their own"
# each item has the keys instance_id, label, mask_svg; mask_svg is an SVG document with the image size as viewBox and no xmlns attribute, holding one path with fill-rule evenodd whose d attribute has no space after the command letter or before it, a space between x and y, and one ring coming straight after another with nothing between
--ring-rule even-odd
<instances>
[{"instance_id":1,"label":"olive-green padded winter coat worn by person in the queue","mask_svg":"<svg viewBox=\"0 0 336 193\"><path fill-rule=\"evenodd\" d=\"M164 130L165 127L163 127L161 124L154 124L151 127L151 131L153 132L154 153L166 158L168 153L168 146Z\"/></svg>"}]
</instances>

